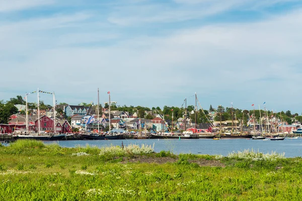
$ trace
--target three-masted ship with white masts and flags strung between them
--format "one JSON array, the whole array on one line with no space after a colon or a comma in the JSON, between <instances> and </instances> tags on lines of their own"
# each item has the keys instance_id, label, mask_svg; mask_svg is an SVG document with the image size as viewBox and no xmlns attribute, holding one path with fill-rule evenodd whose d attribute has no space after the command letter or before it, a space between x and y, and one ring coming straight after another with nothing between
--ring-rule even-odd
<instances>
[{"instance_id":1,"label":"three-masted ship with white masts and flags strung between them","mask_svg":"<svg viewBox=\"0 0 302 201\"><path fill-rule=\"evenodd\" d=\"M36 91L34 91L36 92ZM32 93L34 93L32 92ZM46 133L40 132L40 104L39 104L39 88L38 88L38 133L35 133L34 131L29 131L28 128L28 104L27 104L27 95L29 93L26 93L25 99L26 99L26 130L24 129L18 129L15 130L13 133L13 136L17 139L32 139L32 140L63 140L65 139L65 134L56 134L55 133L55 128L56 128L56 123L55 123L55 99L54 99L54 92L50 93L53 95L53 133ZM47 92L48 93L48 92Z\"/></svg>"}]
</instances>

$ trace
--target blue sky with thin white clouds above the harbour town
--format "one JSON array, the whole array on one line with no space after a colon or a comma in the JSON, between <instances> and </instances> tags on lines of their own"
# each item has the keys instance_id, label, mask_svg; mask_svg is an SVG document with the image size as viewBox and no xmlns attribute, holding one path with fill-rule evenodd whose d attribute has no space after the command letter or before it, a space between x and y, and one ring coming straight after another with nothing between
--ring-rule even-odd
<instances>
[{"instance_id":1,"label":"blue sky with thin white clouds above the harbour town","mask_svg":"<svg viewBox=\"0 0 302 201\"><path fill-rule=\"evenodd\" d=\"M301 33L297 0L0 0L0 100L301 114Z\"/></svg>"}]
</instances>

